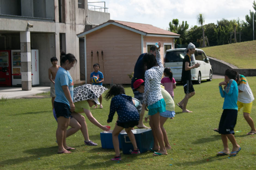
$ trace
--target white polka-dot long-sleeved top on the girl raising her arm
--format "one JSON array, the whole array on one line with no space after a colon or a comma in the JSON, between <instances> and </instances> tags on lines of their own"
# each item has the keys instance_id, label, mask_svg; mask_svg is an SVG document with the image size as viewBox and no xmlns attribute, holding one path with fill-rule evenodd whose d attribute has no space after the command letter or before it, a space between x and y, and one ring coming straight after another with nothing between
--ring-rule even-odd
<instances>
[{"instance_id":1,"label":"white polka-dot long-sleeved top on the girl raising her arm","mask_svg":"<svg viewBox=\"0 0 256 170\"><path fill-rule=\"evenodd\" d=\"M159 50L156 50L156 60L158 66L154 66L145 71L144 104L152 105L163 98L161 94L161 78L164 67Z\"/></svg>"}]
</instances>

